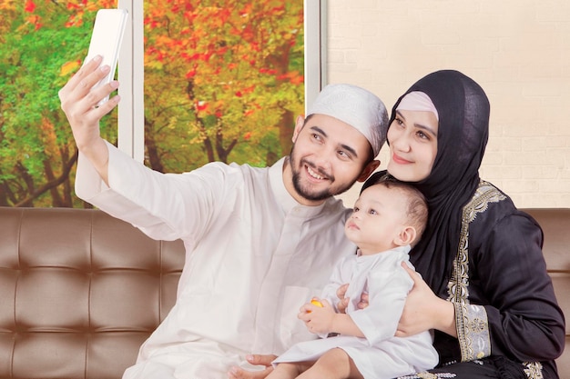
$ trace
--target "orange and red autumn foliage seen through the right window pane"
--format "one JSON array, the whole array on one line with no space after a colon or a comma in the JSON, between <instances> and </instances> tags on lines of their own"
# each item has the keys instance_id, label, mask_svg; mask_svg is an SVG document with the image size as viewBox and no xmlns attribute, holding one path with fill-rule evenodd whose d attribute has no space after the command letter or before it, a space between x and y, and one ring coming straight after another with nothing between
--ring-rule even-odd
<instances>
[{"instance_id":1,"label":"orange and red autumn foliage seen through the right window pane","mask_svg":"<svg viewBox=\"0 0 570 379\"><path fill-rule=\"evenodd\" d=\"M302 0L145 3L147 165L270 165L303 113Z\"/></svg>"}]
</instances>

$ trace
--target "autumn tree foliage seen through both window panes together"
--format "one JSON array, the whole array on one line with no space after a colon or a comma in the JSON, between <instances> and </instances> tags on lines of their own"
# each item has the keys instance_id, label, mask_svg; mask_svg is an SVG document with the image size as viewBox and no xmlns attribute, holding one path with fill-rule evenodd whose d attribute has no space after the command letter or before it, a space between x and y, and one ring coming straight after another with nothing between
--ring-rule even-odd
<instances>
[{"instance_id":1,"label":"autumn tree foliage seen through both window panes together","mask_svg":"<svg viewBox=\"0 0 570 379\"><path fill-rule=\"evenodd\" d=\"M57 91L115 0L0 0L0 205L87 206ZM145 1L146 164L266 165L302 114L302 0ZM120 65L120 62L119 62ZM119 78L120 79L120 78ZM101 122L117 140L116 111Z\"/></svg>"}]
</instances>

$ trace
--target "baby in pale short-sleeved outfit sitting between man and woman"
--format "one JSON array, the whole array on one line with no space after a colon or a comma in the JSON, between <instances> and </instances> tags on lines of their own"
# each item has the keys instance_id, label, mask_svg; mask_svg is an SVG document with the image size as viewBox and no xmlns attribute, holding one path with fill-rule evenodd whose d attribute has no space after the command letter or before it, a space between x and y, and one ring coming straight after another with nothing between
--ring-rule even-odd
<instances>
[{"instance_id":1,"label":"baby in pale short-sleeved outfit sitting between man and woman","mask_svg":"<svg viewBox=\"0 0 570 379\"><path fill-rule=\"evenodd\" d=\"M408 253L427 222L427 204L411 185L382 178L362 191L345 224L357 254L337 264L321 298L300 309L299 318L322 338L293 345L273 364L268 379L395 378L438 363L430 333L394 337L413 281ZM346 313L337 289L348 283ZM359 309L362 293L369 305Z\"/></svg>"}]
</instances>

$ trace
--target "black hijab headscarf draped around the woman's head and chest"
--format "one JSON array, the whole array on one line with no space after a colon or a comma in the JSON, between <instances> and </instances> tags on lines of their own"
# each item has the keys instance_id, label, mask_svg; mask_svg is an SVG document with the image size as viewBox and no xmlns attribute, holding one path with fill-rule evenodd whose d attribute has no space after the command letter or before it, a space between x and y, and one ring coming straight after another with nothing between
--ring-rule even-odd
<instances>
[{"instance_id":1,"label":"black hijab headscarf draped around the woman's head and chest","mask_svg":"<svg viewBox=\"0 0 570 379\"><path fill-rule=\"evenodd\" d=\"M389 125L402 97L412 91L421 91L432 99L439 128L432 172L413 183L425 195L430 214L410 258L433 291L443 294L459 247L463 205L479 185L479 166L489 135L489 101L471 78L453 70L438 71L424 76L398 99ZM372 175L362 189L382 175L385 172Z\"/></svg>"}]
</instances>

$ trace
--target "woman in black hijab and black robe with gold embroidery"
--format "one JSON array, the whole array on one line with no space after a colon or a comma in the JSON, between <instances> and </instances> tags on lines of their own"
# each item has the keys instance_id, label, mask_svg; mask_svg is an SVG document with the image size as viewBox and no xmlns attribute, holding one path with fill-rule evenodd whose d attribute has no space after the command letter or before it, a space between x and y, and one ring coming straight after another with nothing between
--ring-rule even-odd
<instances>
[{"instance_id":1,"label":"woman in black hijab and black robe with gold embroidery","mask_svg":"<svg viewBox=\"0 0 570 379\"><path fill-rule=\"evenodd\" d=\"M396 335L434 329L440 364L406 379L558 378L565 320L546 273L543 233L479 177L488 132L479 85L452 70L426 75L392 108L387 171L363 186L392 175L429 204L411 252L425 283L415 277Z\"/></svg>"}]
</instances>

